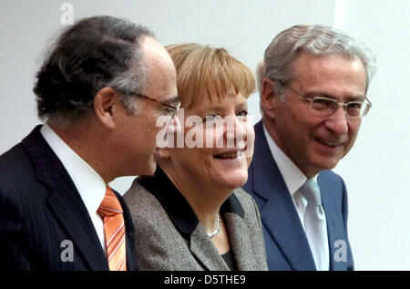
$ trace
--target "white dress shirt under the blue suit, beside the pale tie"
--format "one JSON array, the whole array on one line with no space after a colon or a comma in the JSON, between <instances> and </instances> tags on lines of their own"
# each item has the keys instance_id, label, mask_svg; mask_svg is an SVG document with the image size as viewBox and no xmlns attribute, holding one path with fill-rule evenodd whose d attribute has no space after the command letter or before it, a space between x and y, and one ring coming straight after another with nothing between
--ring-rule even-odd
<instances>
[{"instance_id":1,"label":"white dress shirt under the blue suit, beside the pale tie","mask_svg":"<svg viewBox=\"0 0 410 289\"><path fill-rule=\"evenodd\" d=\"M306 176L300 170L292 160L284 154L284 152L276 145L275 141L272 139L268 130L263 126L263 132L265 137L268 140L269 148L272 152L273 159L276 161L278 169L281 171L283 180L292 196L292 201L298 212L299 219L303 225L304 212L306 211L307 200L303 196L302 192L299 189L302 187L302 184L307 180ZM313 177L314 181L317 181L317 175Z\"/></svg>"}]
</instances>

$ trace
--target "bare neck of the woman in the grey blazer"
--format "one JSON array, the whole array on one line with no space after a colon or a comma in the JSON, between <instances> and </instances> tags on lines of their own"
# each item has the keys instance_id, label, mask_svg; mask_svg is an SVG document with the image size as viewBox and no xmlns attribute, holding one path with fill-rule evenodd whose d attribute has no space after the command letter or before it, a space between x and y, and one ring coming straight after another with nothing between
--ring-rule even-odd
<instances>
[{"instance_id":1,"label":"bare neck of the woman in the grey blazer","mask_svg":"<svg viewBox=\"0 0 410 289\"><path fill-rule=\"evenodd\" d=\"M200 180L187 181L190 179L181 174L180 170L175 170L168 164L164 165L163 162L160 167L188 201L205 231L215 231L220 206L229 198L233 190L204 184Z\"/></svg>"}]
</instances>

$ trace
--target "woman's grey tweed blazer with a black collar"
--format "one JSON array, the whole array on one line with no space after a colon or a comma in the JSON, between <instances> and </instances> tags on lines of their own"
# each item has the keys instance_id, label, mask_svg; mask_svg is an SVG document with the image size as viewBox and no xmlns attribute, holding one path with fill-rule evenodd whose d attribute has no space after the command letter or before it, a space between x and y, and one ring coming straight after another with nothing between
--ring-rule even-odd
<instances>
[{"instance_id":1,"label":"woman's grey tweed blazer with a black collar","mask_svg":"<svg viewBox=\"0 0 410 289\"><path fill-rule=\"evenodd\" d=\"M140 270L230 270L195 213L166 175L137 179L124 195L135 227ZM237 270L267 270L259 210L237 189L223 203Z\"/></svg>"}]
</instances>

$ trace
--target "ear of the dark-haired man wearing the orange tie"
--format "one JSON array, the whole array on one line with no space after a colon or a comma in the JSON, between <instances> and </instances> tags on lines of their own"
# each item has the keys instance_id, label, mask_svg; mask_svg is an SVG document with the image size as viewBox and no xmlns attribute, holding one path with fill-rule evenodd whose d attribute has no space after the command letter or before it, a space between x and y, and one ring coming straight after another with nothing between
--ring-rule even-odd
<instances>
[{"instance_id":1,"label":"ear of the dark-haired man wearing the orange tie","mask_svg":"<svg viewBox=\"0 0 410 289\"><path fill-rule=\"evenodd\" d=\"M108 129L115 128L115 117L118 114L120 101L118 92L113 88L100 89L94 98L94 111L97 119Z\"/></svg>"}]
</instances>

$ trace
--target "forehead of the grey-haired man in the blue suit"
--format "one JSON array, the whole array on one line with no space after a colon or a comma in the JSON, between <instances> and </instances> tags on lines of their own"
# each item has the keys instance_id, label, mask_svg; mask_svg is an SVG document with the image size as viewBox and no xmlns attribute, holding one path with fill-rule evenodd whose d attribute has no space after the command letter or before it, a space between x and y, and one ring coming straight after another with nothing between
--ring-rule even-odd
<instances>
[{"instance_id":1,"label":"forehead of the grey-haired man in the blue suit","mask_svg":"<svg viewBox=\"0 0 410 289\"><path fill-rule=\"evenodd\" d=\"M354 94L364 95L366 74L359 58L302 53L292 68L294 79L305 88L344 88L354 90Z\"/></svg>"}]
</instances>

